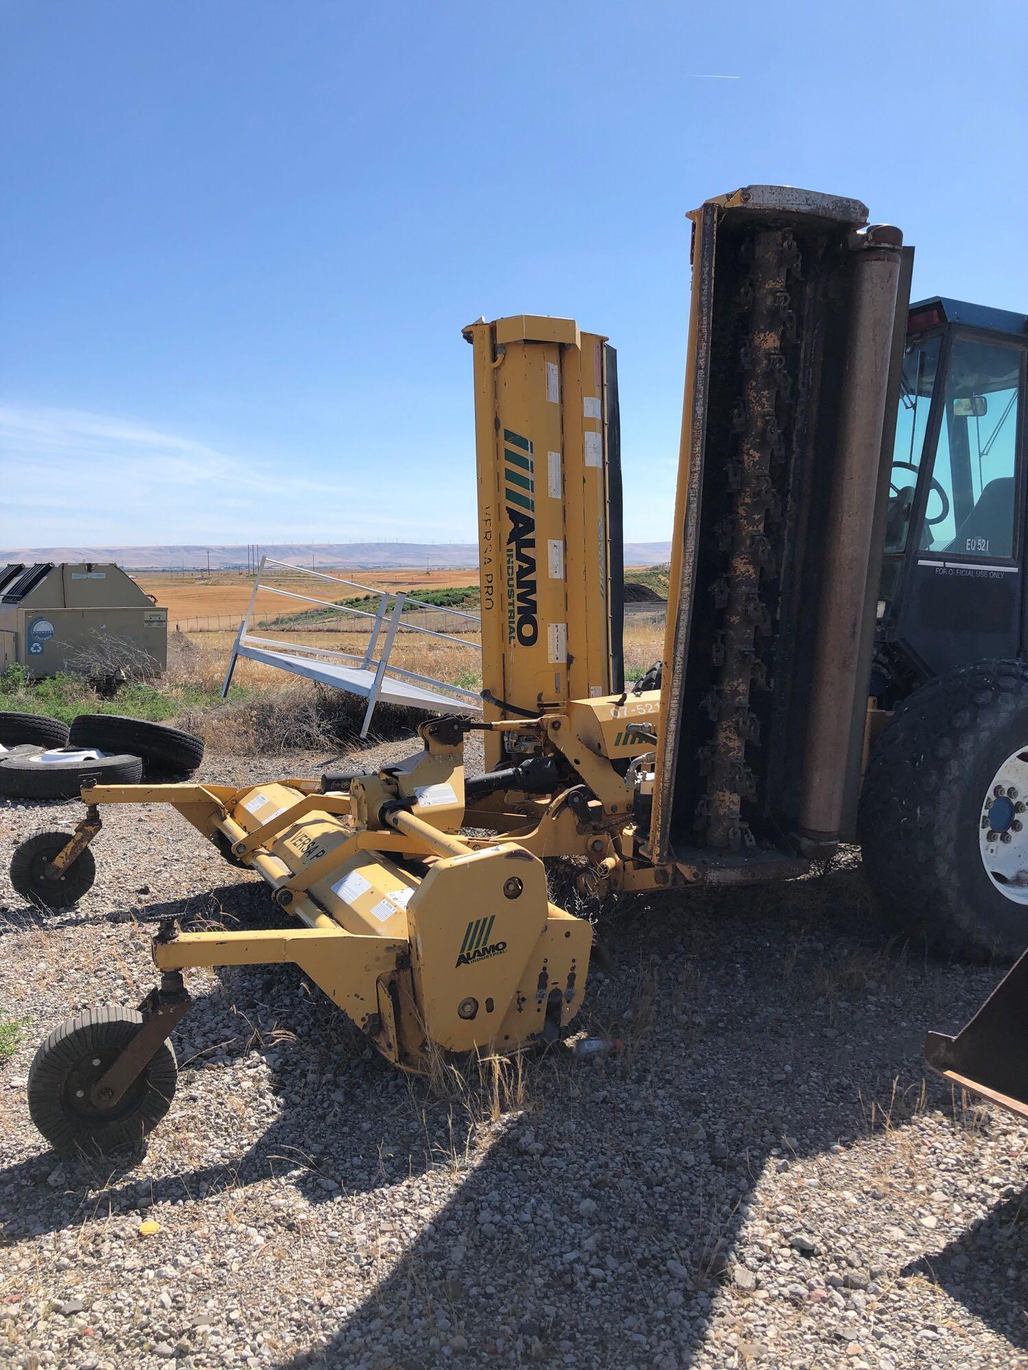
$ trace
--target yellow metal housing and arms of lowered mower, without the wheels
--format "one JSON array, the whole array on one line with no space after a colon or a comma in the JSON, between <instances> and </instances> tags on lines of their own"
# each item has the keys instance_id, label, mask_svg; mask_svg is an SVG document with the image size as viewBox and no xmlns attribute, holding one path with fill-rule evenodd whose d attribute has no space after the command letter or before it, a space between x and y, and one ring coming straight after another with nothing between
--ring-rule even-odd
<instances>
[{"instance_id":1,"label":"yellow metal housing and arms of lowered mower, without the wheels","mask_svg":"<svg viewBox=\"0 0 1028 1370\"><path fill-rule=\"evenodd\" d=\"M292 962L408 1070L430 1069L440 1051L514 1051L547 1021L569 1022L592 930L548 901L543 863L522 845L493 838L473 849L436 826L437 817L459 826L463 767L459 734L445 734L451 743L433 727L422 730L425 751L356 784L354 815L377 804L388 825L377 830L356 826L344 796L306 782L92 790L99 804L169 801L208 836L222 833L302 925L162 934L156 964ZM413 803L389 807L404 799Z\"/></svg>"}]
</instances>

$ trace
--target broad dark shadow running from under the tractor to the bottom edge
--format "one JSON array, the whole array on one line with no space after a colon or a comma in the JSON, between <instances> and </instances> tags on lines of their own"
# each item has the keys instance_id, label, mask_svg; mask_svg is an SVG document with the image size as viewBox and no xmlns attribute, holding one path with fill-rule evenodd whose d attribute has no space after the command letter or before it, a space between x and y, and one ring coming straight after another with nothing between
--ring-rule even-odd
<instances>
[{"instance_id":1,"label":"broad dark shadow running from under the tractor to the bottom edge","mask_svg":"<svg viewBox=\"0 0 1028 1370\"><path fill-rule=\"evenodd\" d=\"M947 1023L981 996L980 971L853 937L864 900L842 870L744 901L622 907L604 927L621 974L599 978L585 1026L624 1037L624 1056L535 1067L525 1112L445 1210L329 1345L280 1370L710 1360L713 1299L765 1166L866 1141L872 1101L902 1128L925 1006ZM927 1107L949 1104L929 1081ZM802 1241L802 1212L779 1221ZM954 1295L977 1311L968 1286ZM739 1332L740 1365L774 1363Z\"/></svg>"}]
</instances>

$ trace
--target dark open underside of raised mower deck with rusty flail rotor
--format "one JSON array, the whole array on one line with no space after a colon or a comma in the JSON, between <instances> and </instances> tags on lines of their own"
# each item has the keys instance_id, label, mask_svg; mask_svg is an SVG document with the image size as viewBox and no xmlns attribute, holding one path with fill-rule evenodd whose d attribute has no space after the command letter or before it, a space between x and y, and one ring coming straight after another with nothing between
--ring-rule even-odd
<instances>
[{"instance_id":1,"label":"dark open underside of raised mower deck with rusty flail rotor","mask_svg":"<svg viewBox=\"0 0 1028 1370\"><path fill-rule=\"evenodd\" d=\"M847 248L877 244L873 234L854 238L866 222L859 201L792 188L747 186L691 218L689 360L648 844L658 863L685 847L747 859L761 848L795 852L839 478ZM881 244L894 237L884 233ZM866 571L858 582L864 612ZM869 651L859 632L854 655L862 669ZM848 732L847 714L840 733ZM836 767L840 777L848 764Z\"/></svg>"}]
</instances>

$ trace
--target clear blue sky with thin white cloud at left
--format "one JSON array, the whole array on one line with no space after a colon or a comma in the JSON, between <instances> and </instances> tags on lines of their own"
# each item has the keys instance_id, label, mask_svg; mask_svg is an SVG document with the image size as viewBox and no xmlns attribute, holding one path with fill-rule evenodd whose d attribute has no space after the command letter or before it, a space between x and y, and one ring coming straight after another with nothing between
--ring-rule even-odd
<instances>
[{"instance_id":1,"label":"clear blue sky with thin white cloud at left","mask_svg":"<svg viewBox=\"0 0 1028 1370\"><path fill-rule=\"evenodd\" d=\"M1020 0L0 0L0 545L472 540L461 326L522 311L618 347L625 534L668 537L684 214L851 195L916 293L1028 311L1027 37Z\"/></svg>"}]
</instances>

